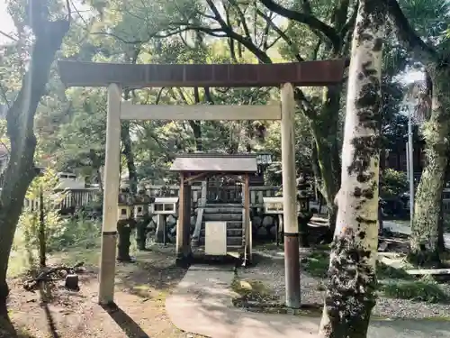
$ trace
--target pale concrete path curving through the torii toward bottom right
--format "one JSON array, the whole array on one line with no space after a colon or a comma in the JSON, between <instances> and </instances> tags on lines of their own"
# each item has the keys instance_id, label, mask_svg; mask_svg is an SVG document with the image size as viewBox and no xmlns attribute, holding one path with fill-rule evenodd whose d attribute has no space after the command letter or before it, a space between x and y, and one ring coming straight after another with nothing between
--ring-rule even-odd
<instances>
[{"instance_id":1,"label":"pale concrete path curving through the torii toward bottom right","mask_svg":"<svg viewBox=\"0 0 450 338\"><path fill-rule=\"evenodd\" d=\"M179 329L212 338L317 338L320 318L255 314L232 306L234 277L224 267L193 266L166 299L166 312ZM368 338L450 338L450 322L374 321Z\"/></svg>"}]
</instances>

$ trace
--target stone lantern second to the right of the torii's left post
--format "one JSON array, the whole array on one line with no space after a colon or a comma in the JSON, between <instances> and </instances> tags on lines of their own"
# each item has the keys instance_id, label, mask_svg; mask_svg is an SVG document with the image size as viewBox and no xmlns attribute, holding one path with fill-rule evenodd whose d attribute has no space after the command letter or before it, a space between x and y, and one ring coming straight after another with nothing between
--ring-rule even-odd
<instances>
[{"instance_id":1,"label":"stone lantern second to the right of the torii's left post","mask_svg":"<svg viewBox=\"0 0 450 338\"><path fill-rule=\"evenodd\" d=\"M134 198L134 220L136 221L136 242L139 250L145 250L147 226L150 222L149 206L151 197L147 195L143 185L138 186L138 194Z\"/></svg>"}]
</instances>

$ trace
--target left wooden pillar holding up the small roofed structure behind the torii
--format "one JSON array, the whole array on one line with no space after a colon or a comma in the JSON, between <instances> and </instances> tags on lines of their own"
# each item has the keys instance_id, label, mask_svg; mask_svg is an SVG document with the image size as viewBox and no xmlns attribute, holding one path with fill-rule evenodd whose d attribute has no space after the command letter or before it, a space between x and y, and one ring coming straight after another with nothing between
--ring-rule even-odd
<instances>
[{"instance_id":1,"label":"left wooden pillar holding up the small roofed structure behind the torii","mask_svg":"<svg viewBox=\"0 0 450 338\"><path fill-rule=\"evenodd\" d=\"M191 184L188 174L180 174L178 222L176 224L176 259L181 262L191 256Z\"/></svg>"}]
</instances>

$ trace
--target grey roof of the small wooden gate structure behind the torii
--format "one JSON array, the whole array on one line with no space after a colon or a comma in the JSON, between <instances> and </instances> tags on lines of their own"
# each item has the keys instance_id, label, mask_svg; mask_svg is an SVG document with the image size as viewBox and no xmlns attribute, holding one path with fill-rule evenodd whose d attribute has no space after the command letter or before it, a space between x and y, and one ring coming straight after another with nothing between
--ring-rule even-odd
<instances>
[{"instance_id":1,"label":"grey roof of the small wooden gate structure behind the torii","mask_svg":"<svg viewBox=\"0 0 450 338\"><path fill-rule=\"evenodd\" d=\"M217 172L217 173L255 173L257 156L247 154L207 154L192 153L178 155L171 171Z\"/></svg>"}]
</instances>

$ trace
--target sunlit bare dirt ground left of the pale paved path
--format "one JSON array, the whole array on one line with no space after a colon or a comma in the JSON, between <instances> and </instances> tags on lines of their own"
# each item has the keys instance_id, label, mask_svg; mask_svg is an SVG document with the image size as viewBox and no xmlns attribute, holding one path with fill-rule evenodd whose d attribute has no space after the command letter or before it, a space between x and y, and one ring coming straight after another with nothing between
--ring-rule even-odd
<instances>
[{"instance_id":1,"label":"sunlit bare dirt ground left of the pale paved path","mask_svg":"<svg viewBox=\"0 0 450 338\"><path fill-rule=\"evenodd\" d=\"M115 301L108 313L97 305L97 269L88 266L80 276L79 292L55 286L48 292L24 291L21 279L10 280L10 316L18 331L33 338L186 338L170 322L165 299L184 277L175 267L173 248L141 252L135 264L118 264ZM47 303L42 298L49 299Z\"/></svg>"}]
</instances>

